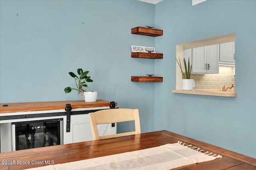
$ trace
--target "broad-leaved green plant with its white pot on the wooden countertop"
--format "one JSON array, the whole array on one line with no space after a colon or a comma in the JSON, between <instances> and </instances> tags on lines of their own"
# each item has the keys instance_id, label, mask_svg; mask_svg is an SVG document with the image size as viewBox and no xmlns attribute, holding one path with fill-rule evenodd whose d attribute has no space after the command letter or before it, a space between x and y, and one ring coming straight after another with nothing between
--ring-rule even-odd
<instances>
[{"instance_id":1,"label":"broad-leaved green plant with its white pot on the wooden countertop","mask_svg":"<svg viewBox=\"0 0 256 170\"><path fill-rule=\"evenodd\" d=\"M93 82L90 76L87 76L89 71L83 72L82 68L77 69L78 76L73 72L68 72L68 74L75 79L76 88L66 87L64 89L65 93L71 92L71 90L78 91L78 95L81 95L84 98L85 102L96 102L97 100L97 92L86 92L83 87L88 87L86 82Z\"/></svg>"}]
</instances>

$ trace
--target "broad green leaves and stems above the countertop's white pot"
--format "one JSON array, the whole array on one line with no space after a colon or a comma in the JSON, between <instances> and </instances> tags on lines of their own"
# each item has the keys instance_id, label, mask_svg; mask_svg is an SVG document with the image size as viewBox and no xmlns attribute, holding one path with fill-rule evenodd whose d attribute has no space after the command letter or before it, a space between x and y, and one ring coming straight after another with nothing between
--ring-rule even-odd
<instances>
[{"instance_id":1,"label":"broad green leaves and stems above the countertop's white pot","mask_svg":"<svg viewBox=\"0 0 256 170\"><path fill-rule=\"evenodd\" d=\"M75 79L76 88L66 87L64 89L64 92L69 93L69 92L71 92L71 90L77 90L78 95L81 95L82 97L84 97L84 92L86 90L84 90L83 87L88 87L86 82L93 82L91 77L87 76L88 72L89 71L83 72L82 68L78 68L77 73L78 73L79 77L76 76L76 74L74 74L73 72L68 72L68 74Z\"/></svg>"}]
</instances>

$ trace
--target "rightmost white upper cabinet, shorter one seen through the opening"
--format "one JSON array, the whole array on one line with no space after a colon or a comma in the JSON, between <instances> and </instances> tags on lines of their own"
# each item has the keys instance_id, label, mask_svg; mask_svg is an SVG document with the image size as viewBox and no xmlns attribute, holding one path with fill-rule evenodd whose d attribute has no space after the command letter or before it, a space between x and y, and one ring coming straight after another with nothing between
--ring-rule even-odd
<instances>
[{"instance_id":1,"label":"rightmost white upper cabinet, shorter one seen through the opening","mask_svg":"<svg viewBox=\"0 0 256 170\"><path fill-rule=\"evenodd\" d=\"M220 44L220 64L235 65L235 42Z\"/></svg>"}]
</instances>

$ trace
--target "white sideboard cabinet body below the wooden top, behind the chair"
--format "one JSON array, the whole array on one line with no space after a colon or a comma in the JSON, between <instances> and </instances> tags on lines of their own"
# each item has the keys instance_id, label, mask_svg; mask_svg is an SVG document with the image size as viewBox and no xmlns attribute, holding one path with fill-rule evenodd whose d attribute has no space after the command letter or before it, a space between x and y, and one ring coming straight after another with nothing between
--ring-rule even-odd
<instances>
[{"instance_id":1,"label":"white sideboard cabinet body below the wooden top, behind the chair","mask_svg":"<svg viewBox=\"0 0 256 170\"><path fill-rule=\"evenodd\" d=\"M72 109L73 115L70 115L70 132L67 132L67 116L62 114L66 113L64 109L60 110L45 110L45 111L26 111L26 112L15 112L15 113L1 113L0 116L17 116L17 115L37 115L38 117L26 118L26 119L4 119L0 120L0 152L10 152L14 150L16 143L15 129L12 127L12 123L16 122L29 122L29 121L46 121L50 119L63 119L62 131L63 141L61 143L77 143L84 141L92 141L92 131L90 127L90 119L88 113L92 110L110 109L110 107L90 107ZM80 113L76 113L80 111ZM82 112L82 113L81 113ZM58 116L44 117L45 114L59 113ZM40 116L42 115L42 116ZM15 127L15 126L14 126ZM98 125L99 135L111 135L116 134L116 123Z\"/></svg>"}]
</instances>

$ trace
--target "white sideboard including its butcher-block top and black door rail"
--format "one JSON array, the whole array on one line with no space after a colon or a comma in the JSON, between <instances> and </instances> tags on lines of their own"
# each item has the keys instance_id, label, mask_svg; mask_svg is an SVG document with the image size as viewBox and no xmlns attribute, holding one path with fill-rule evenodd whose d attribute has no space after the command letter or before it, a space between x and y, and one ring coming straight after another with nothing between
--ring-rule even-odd
<instances>
[{"instance_id":1,"label":"white sideboard including its butcher-block top and black door rail","mask_svg":"<svg viewBox=\"0 0 256 170\"><path fill-rule=\"evenodd\" d=\"M24 102L0 104L0 149L1 152L14 150L16 124L60 121L63 143L77 143L92 140L88 113L102 109L114 109L117 104L106 100L96 102L57 101ZM14 128L15 127L15 128ZM102 125L101 133L116 133L116 123Z\"/></svg>"}]
</instances>

